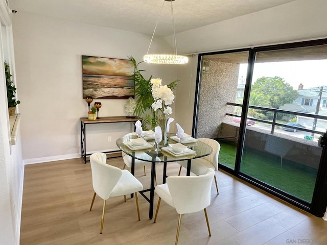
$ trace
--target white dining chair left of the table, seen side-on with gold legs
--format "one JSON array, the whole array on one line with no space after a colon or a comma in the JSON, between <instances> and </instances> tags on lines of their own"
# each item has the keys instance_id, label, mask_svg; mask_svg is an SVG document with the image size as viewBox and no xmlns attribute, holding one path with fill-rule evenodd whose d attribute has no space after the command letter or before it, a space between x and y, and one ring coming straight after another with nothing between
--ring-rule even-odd
<instances>
[{"instance_id":1,"label":"white dining chair left of the table, seen side-on with gold legs","mask_svg":"<svg viewBox=\"0 0 327 245\"><path fill-rule=\"evenodd\" d=\"M99 197L103 199L100 234L102 234L103 230L106 201L111 197L135 193L137 216L138 220L140 220L137 192L143 190L142 183L128 170L122 170L118 167L106 164L106 160L107 156L102 152L94 153L90 156L92 185L95 191L90 211L92 210L96 195L99 195Z\"/></svg>"}]
</instances>

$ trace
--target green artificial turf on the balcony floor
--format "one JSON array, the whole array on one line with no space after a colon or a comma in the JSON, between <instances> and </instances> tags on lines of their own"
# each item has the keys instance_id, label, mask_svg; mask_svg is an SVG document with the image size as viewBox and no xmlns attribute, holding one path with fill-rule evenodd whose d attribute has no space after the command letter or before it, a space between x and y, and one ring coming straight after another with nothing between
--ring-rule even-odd
<instances>
[{"instance_id":1,"label":"green artificial turf on the balcony floor","mask_svg":"<svg viewBox=\"0 0 327 245\"><path fill-rule=\"evenodd\" d=\"M219 163L233 169L236 145L228 142L220 145ZM311 203L317 169L287 160L283 160L281 167L280 157L245 148L241 172Z\"/></svg>"}]
</instances>

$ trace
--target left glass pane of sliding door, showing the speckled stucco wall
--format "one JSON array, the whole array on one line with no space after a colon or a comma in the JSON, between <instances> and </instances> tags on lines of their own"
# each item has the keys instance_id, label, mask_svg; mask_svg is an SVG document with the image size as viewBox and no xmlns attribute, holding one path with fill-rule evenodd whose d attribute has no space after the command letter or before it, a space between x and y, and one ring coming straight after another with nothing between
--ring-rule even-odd
<instances>
[{"instance_id":1,"label":"left glass pane of sliding door, showing the speckled stucco wall","mask_svg":"<svg viewBox=\"0 0 327 245\"><path fill-rule=\"evenodd\" d=\"M202 60L197 138L216 139L224 149L219 162L230 169L235 168L242 107L227 103L243 102L246 75L240 77L239 72L248 56L248 51L240 51L206 55Z\"/></svg>"}]
</instances>

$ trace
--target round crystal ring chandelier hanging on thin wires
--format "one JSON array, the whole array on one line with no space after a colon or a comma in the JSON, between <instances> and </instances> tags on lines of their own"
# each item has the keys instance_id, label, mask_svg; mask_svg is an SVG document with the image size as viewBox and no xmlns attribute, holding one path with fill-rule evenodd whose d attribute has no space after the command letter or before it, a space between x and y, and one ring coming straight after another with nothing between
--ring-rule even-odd
<instances>
[{"instance_id":1,"label":"round crystal ring chandelier hanging on thin wires","mask_svg":"<svg viewBox=\"0 0 327 245\"><path fill-rule=\"evenodd\" d=\"M175 1L175 0L164 0L164 1L171 2L174 54L149 54L149 50L150 50L150 46L151 46L151 43L152 43L152 40L154 37L154 33L155 33L155 30L157 29L158 22L159 22L161 12L162 12L162 8L164 7L164 4L165 4L165 2L164 2L164 3L162 3L159 18L155 25L147 54L143 57L143 60L147 63L153 63L153 64L186 64L186 63L188 63L189 58L186 56L177 55L175 20L174 20L174 12L173 12L173 1Z\"/></svg>"}]
</instances>

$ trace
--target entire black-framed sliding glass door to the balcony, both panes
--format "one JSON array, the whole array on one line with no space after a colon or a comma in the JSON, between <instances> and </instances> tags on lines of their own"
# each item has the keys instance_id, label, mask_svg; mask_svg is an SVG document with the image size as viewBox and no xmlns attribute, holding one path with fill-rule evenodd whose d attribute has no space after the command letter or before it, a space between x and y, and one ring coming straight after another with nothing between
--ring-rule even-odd
<instances>
[{"instance_id":1,"label":"entire black-framed sliding glass door to the balcony, both panes","mask_svg":"<svg viewBox=\"0 0 327 245\"><path fill-rule=\"evenodd\" d=\"M220 168L310 210L327 178L327 40L199 60L196 137L221 144Z\"/></svg>"}]
</instances>

